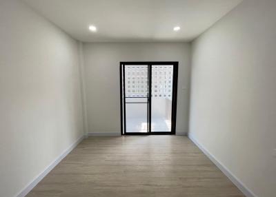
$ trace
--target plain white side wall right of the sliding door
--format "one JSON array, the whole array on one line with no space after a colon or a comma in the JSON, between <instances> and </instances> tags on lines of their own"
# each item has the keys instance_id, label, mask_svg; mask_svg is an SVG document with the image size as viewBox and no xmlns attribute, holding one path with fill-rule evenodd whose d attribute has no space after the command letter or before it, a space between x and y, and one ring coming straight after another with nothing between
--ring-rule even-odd
<instances>
[{"instance_id":1,"label":"plain white side wall right of the sliding door","mask_svg":"<svg viewBox=\"0 0 276 197\"><path fill-rule=\"evenodd\" d=\"M189 134L259 197L276 194L275 10L244 0L193 42Z\"/></svg>"}]
</instances>

